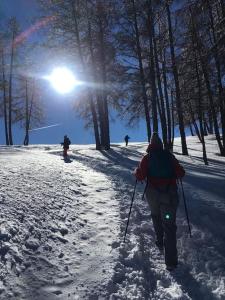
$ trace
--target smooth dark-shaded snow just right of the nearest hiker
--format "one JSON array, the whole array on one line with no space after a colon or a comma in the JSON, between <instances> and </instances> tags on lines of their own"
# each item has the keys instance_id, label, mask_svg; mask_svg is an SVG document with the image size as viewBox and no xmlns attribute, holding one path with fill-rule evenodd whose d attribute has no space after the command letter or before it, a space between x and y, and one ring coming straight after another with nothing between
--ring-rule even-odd
<instances>
[{"instance_id":1,"label":"smooth dark-shaded snow just right of the nearest hiker","mask_svg":"<svg viewBox=\"0 0 225 300\"><path fill-rule=\"evenodd\" d=\"M222 171L221 174L218 173L218 168L187 162L182 164L187 171L183 181L190 222L203 232L209 231L218 239L220 243L216 246L216 250L225 256L225 231L220 230L225 220L225 176ZM179 190L181 198L179 211L184 214L181 187Z\"/></svg>"}]
</instances>

